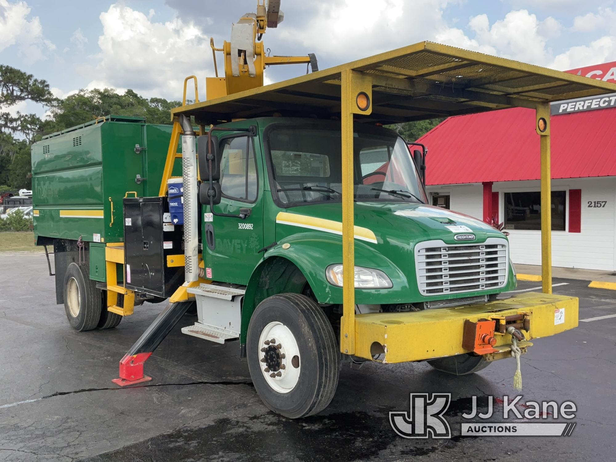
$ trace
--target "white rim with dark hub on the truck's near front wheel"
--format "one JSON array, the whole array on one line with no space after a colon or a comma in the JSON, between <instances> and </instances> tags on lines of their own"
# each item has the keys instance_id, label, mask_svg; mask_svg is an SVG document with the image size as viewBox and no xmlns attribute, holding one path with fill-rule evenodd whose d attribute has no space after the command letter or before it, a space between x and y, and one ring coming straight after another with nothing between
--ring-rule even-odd
<instances>
[{"instance_id":1,"label":"white rim with dark hub on the truck's near front wheel","mask_svg":"<svg viewBox=\"0 0 616 462\"><path fill-rule=\"evenodd\" d=\"M258 348L259 367L267 384L278 393L293 390L299 381L302 362L291 330L283 323L270 322L261 331Z\"/></svg>"}]
</instances>

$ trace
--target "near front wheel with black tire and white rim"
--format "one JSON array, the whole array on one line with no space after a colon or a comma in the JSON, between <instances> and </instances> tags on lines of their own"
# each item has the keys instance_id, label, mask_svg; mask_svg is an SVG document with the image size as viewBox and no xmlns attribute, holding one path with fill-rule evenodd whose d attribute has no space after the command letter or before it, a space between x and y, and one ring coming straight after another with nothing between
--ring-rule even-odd
<instances>
[{"instance_id":1,"label":"near front wheel with black tire and white rim","mask_svg":"<svg viewBox=\"0 0 616 462\"><path fill-rule=\"evenodd\" d=\"M323 310L300 294L266 298L254 310L246 344L254 388L289 418L325 409L338 386L340 354Z\"/></svg>"}]
</instances>

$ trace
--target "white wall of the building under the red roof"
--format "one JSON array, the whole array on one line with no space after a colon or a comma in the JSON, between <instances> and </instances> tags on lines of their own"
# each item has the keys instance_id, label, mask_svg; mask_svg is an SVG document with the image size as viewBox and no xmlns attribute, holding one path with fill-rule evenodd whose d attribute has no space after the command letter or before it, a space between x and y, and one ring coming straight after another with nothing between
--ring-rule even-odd
<instances>
[{"instance_id":1,"label":"white wall of the building under the red roof","mask_svg":"<svg viewBox=\"0 0 616 462\"><path fill-rule=\"evenodd\" d=\"M582 190L581 232L569 232L569 190ZM539 181L511 181L493 184L498 192L499 219L505 217L503 193L539 191ZM552 264L557 267L616 270L616 177L552 180L552 190L567 191L565 231L552 232ZM428 187L428 192L449 193L450 208L482 219L481 184ZM588 202L607 201L604 208L589 207ZM511 259L514 263L541 264L541 232L507 230Z\"/></svg>"}]
</instances>

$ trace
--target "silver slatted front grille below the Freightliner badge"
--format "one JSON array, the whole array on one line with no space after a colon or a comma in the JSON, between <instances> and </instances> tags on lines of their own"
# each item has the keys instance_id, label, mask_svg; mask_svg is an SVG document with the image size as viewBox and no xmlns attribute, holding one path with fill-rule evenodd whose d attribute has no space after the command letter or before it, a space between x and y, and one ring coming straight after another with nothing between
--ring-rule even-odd
<instances>
[{"instance_id":1,"label":"silver slatted front grille below the Freightliner badge","mask_svg":"<svg viewBox=\"0 0 616 462\"><path fill-rule=\"evenodd\" d=\"M447 245L425 241L415 247L419 293L425 296L492 290L507 283L507 241Z\"/></svg>"}]
</instances>

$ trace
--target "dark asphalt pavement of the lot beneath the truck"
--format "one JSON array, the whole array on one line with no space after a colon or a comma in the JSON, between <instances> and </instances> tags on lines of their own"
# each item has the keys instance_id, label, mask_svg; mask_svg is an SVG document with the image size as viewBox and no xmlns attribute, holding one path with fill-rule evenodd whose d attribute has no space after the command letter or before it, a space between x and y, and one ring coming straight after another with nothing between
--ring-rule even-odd
<instances>
[{"instance_id":1,"label":"dark asphalt pavement of the lot beneath the truck","mask_svg":"<svg viewBox=\"0 0 616 462\"><path fill-rule=\"evenodd\" d=\"M580 298L588 321L535 340L521 362L521 402L573 401L571 436L469 437L460 423L473 396L485 411L487 396L518 395L513 359L462 377L425 363L344 365L325 411L288 420L262 405L237 342L180 333L194 322L187 316L147 361L153 380L118 389L119 360L164 305L79 333L55 304L44 255L0 254L0 461L614 460L616 291L587 285L554 280L554 293ZM410 393L436 392L452 394L452 438L398 436L389 411L408 411Z\"/></svg>"}]
</instances>

